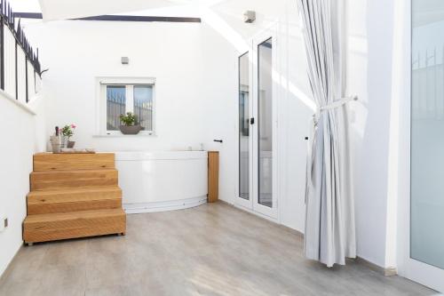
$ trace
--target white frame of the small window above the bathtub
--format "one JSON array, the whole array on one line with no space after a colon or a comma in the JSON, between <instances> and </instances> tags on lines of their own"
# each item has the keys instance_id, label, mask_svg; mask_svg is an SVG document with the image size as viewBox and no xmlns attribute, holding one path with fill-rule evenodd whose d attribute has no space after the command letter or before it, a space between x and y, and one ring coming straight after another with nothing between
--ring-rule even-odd
<instances>
[{"instance_id":1,"label":"white frame of the small window above the bathtub","mask_svg":"<svg viewBox=\"0 0 444 296\"><path fill-rule=\"evenodd\" d=\"M107 85L123 85L125 86L126 101L125 112L134 110L133 90L135 85L151 85L153 87L153 116L152 130L142 130L137 135L155 136L156 127L156 87L155 78L153 77L96 77L96 133L99 136L119 136L123 135L120 131L107 130ZM131 86L131 87L128 87ZM137 136L136 135L136 136Z\"/></svg>"}]
</instances>

